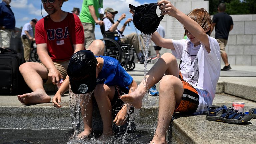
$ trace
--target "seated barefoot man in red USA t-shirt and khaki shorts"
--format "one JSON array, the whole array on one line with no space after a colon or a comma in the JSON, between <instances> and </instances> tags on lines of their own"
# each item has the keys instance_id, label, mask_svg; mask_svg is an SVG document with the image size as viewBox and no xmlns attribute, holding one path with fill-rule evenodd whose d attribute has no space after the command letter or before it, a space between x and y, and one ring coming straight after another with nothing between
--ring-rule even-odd
<instances>
[{"instance_id":1,"label":"seated barefoot man in red USA t-shirt and khaki shorts","mask_svg":"<svg viewBox=\"0 0 256 144\"><path fill-rule=\"evenodd\" d=\"M84 31L80 19L61 10L63 2L68 0L41 1L49 14L35 26L37 54L41 63L26 62L19 67L25 82L33 91L18 95L18 100L24 104L50 102L51 97L46 94L43 84L55 85L65 79L71 56L84 49ZM93 51L95 55L102 54L104 50L104 43L100 40L90 46L96 47Z\"/></svg>"}]
</instances>

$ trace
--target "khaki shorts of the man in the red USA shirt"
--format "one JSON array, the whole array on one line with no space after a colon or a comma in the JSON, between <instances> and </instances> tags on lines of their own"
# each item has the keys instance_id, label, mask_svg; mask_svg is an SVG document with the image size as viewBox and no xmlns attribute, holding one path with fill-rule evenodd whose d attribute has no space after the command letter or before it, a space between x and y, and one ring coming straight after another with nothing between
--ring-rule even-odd
<instances>
[{"instance_id":1,"label":"khaki shorts of the man in the red USA shirt","mask_svg":"<svg viewBox=\"0 0 256 144\"><path fill-rule=\"evenodd\" d=\"M46 66L42 63L40 63L42 66L44 66L46 68ZM66 78L67 76L67 69L68 69L68 64L69 64L69 60L68 61L64 61L64 62L53 62L53 64L55 65L55 67L57 68L57 70L60 72L60 74L63 76L63 79ZM47 72L49 73L48 68ZM49 80L49 78L47 80L43 80L45 84L49 84L52 83L51 80Z\"/></svg>"}]
</instances>

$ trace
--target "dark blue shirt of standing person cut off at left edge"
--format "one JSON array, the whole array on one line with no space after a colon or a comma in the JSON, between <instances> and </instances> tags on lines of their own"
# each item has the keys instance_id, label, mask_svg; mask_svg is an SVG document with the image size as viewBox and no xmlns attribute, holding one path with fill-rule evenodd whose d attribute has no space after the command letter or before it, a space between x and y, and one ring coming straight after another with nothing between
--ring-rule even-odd
<instances>
[{"instance_id":1,"label":"dark blue shirt of standing person cut off at left edge","mask_svg":"<svg viewBox=\"0 0 256 144\"><path fill-rule=\"evenodd\" d=\"M10 7L4 1L0 3L0 26L5 26L5 29L15 28L15 17Z\"/></svg>"}]
</instances>

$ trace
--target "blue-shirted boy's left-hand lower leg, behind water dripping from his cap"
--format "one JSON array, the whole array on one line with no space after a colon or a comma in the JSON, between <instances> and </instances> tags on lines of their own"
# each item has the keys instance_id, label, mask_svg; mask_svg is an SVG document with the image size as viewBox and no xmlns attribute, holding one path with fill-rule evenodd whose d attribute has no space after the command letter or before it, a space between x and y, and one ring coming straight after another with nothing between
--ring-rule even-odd
<instances>
[{"instance_id":1,"label":"blue-shirted boy's left-hand lower leg, behind water dripping from his cap","mask_svg":"<svg viewBox=\"0 0 256 144\"><path fill-rule=\"evenodd\" d=\"M80 102L82 118L84 121L84 131L78 134L78 138L89 136L92 133L92 96L85 95Z\"/></svg>"}]
</instances>

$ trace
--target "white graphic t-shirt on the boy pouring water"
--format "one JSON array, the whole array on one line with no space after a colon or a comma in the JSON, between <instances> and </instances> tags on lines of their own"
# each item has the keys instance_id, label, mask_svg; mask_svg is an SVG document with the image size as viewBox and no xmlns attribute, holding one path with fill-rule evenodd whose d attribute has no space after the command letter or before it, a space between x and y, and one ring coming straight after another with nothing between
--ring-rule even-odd
<instances>
[{"instance_id":1,"label":"white graphic t-shirt on the boy pouring water","mask_svg":"<svg viewBox=\"0 0 256 144\"><path fill-rule=\"evenodd\" d=\"M211 51L205 46L194 46L189 40L172 40L175 50L172 54L180 59L183 79L195 87L199 95L199 105L195 114L202 114L212 105L220 76L220 47L216 39L209 37Z\"/></svg>"}]
</instances>

